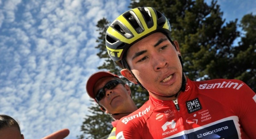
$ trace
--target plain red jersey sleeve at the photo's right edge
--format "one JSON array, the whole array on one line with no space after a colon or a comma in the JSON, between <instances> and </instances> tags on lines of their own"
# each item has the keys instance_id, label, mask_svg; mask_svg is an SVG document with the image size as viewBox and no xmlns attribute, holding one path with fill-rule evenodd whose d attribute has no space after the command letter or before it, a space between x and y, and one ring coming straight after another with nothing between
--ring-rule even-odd
<instances>
[{"instance_id":1,"label":"plain red jersey sleeve at the photo's right edge","mask_svg":"<svg viewBox=\"0 0 256 139\"><path fill-rule=\"evenodd\" d=\"M256 139L256 94L247 84L241 83L244 85L239 89L236 112L241 128L251 139Z\"/></svg>"}]
</instances>

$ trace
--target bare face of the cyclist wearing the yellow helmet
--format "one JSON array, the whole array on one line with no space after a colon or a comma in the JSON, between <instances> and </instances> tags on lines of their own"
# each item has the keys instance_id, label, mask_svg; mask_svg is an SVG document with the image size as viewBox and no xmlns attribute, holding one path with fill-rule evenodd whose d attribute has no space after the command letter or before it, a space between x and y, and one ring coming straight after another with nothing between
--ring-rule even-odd
<instances>
[{"instance_id":1,"label":"bare face of the cyclist wearing the yellow helmet","mask_svg":"<svg viewBox=\"0 0 256 139\"><path fill-rule=\"evenodd\" d=\"M176 94L182 83L182 66L177 50L163 33L151 34L132 45L126 61L138 81L150 92L162 96ZM131 80L136 83L135 79ZM154 94L153 94L154 95ZM158 99L164 99L157 97Z\"/></svg>"}]
</instances>

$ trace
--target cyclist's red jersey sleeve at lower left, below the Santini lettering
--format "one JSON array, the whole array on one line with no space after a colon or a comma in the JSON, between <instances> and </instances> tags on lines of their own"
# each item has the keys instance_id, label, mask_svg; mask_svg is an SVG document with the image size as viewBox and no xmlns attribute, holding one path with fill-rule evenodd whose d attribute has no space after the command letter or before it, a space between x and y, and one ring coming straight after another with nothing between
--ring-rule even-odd
<instances>
[{"instance_id":1,"label":"cyclist's red jersey sleeve at lower left, below the Santini lettering","mask_svg":"<svg viewBox=\"0 0 256 139\"><path fill-rule=\"evenodd\" d=\"M123 118L119 120L116 126L116 138L117 139L140 139L140 131L138 127L131 121L126 124L122 122Z\"/></svg>"}]
</instances>

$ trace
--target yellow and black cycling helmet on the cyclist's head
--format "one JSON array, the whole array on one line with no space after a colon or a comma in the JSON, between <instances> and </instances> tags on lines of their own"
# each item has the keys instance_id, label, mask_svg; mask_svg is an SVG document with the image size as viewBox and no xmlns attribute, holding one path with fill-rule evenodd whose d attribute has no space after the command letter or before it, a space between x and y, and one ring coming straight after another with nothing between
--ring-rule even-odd
<instances>
[{"instance_id":1,"label":"yellow and black cycling helmet on the cyclist's head","mask_svg":"<svg viewBox=\"0 0 256 139\"><path fill-rule=\"evenodd\" d=\"M171 27L168 19L152 7L137 7L117 17L106 32L106 48L110 58L123 68L122 58L137 41L163 32L170 39Z\"/></svg>"}]
</instances>

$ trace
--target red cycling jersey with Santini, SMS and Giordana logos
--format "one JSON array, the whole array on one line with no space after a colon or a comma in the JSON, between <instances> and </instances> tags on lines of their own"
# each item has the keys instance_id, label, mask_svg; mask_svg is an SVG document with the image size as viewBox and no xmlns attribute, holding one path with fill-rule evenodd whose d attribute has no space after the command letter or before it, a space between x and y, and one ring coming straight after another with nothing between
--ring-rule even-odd
<instances>
[{"instance_id":1,"label":"red cycling jersey with Santini, SMS and Giordana logos","mask_svg":"<svg viewBox=\"0 0 256 139\"><path fill-rule=\"evenodd\" d=\"M256 139L256 95L240 80L192 81L174 101L149 97L119 120L121 139Z\"/></svg>"}]
</instances>

